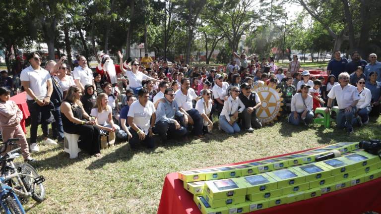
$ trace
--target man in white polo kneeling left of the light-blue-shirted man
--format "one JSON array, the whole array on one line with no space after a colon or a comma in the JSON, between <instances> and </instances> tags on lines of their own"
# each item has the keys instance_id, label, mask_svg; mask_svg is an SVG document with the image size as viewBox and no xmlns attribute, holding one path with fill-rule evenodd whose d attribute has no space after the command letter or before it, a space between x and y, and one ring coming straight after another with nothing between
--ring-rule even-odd
<instances>
[{"instance_id":1,"label":"man in white polo kneeling left of the light-blue-shirted man","mask_svg":"<svg viewBox=\"0 0 381 214\"><path fill-rule=\"evenodd\" d=\"M137 95L138 100L131 104L127 114L127 122L131 127L130 133L132 135L128 141L129 146L134 149L143 143L147 148L152 149L155 147L152 129L155 126L156 110L153 103L148 100L147 89L140 89Z\"/></svg>"}]
</instances>

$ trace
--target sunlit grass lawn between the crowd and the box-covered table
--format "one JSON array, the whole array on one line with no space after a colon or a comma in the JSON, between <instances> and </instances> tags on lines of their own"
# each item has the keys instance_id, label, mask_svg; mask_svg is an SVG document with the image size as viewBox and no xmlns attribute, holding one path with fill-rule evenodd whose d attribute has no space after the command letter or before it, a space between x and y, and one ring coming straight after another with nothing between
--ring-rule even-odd
<instances>
[{"instance_id":1,"label":"sunlit grass lawn between the crowd and the box-covered table","mask_svg":"<svg viewBox=\"0 0 381 214\"><path fill-rule=\"evenodd\" d=\"M127 143L102 150L101 158L80 153L70 160L63 145L41 146L33 164L46 178L47 199L25 206L29 214L154 214L167 173L253 160L336 142L381 138L381 118L355 133L319 125L295 127L285 118L254 133L229 136L214 127L205 140L170 141L155 150L131 151ZM215 125L217 126L217 125ZM29 127L28 127L29 129ZM41 137L39 128L39 139ZM29 135L27 136L29 138ZM28 139L29 140L29 139Z\"/></svg>"}]
</instances>

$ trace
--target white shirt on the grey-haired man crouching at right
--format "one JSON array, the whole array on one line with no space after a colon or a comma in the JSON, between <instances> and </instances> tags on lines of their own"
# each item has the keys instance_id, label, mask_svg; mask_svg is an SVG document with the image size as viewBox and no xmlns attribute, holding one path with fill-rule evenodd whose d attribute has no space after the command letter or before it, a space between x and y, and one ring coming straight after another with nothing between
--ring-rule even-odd
<instances>
[{"instance_id":1,"label":"white shirt on the grey-haired man crouching at right","mask_svg":"<svg viewBox=\"0 0 381 214\"><path fill-rule=\"evenodd\" d=\"M344 88L341 88L340 84L337 84L332 87L328 93L328 98L335 99L339 109L344 109L352 105L356 100L360 100L360 94L357 91L357 88L353 85L346 85Z\"/></svg>"}]
</instances>

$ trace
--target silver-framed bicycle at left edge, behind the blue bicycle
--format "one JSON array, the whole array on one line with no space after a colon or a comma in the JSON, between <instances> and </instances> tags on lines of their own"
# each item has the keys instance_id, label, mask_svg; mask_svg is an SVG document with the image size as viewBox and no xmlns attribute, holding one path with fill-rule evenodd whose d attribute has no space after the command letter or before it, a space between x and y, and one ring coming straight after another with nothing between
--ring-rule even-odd
<instances>
[{"instance_id":1,"label":"silver-framed bicycle at left edge, behind the blue bicycle","mask_svg":"<svg viewBox=\"0 0 381 214\"><path fill-rule=\"evenodd\" d=\"M19 139L13 138L6 141L1 153L6 151L7 146L18 145L13 142ZM27 204L31 197L36 202L45 199L44 176L40 176L37 171L28 163L13 163L13 160L22 154L17 153L20 148L7 152L0 157L0 176L2 183L11 188L11 191L19 196L22 204Z\"/></svg>"}]
</instances>

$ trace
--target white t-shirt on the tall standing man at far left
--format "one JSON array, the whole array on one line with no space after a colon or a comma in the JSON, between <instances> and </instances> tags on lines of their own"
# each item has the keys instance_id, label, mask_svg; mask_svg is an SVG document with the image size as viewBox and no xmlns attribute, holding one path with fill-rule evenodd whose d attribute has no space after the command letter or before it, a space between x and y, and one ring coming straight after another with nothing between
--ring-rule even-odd
<instances>
[{"instance_id":1,"label":"white t-shirt on the tall standing man at far left","mask_svg":"<svg viewBox=\"0 0 381 214\"><path fill-rule=\"evenodd\" d=\"M32 89L34 95L38 99L44 99L47 95L47 82L52 82L49 71L44 68L40 70L34 70L32 65L21 71L21 81L29 81L29 88ZM31 96L26 95L28 100L33 100Z\"/></svg>"}]
</instances>

